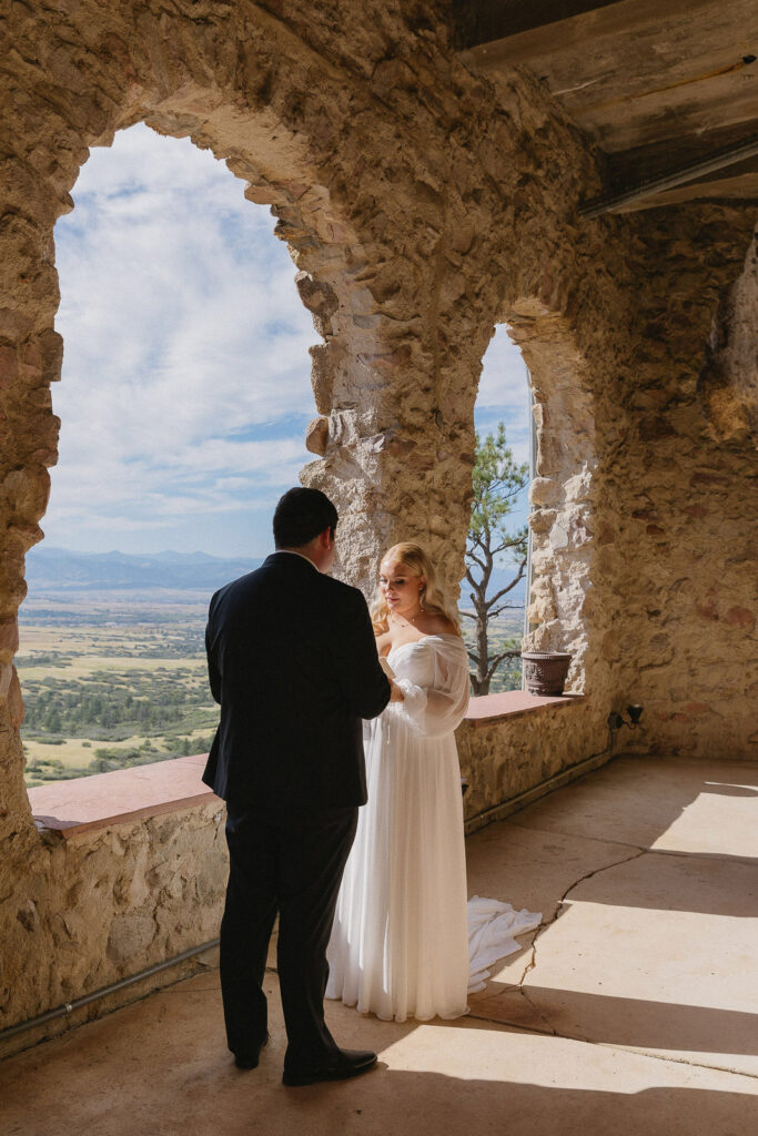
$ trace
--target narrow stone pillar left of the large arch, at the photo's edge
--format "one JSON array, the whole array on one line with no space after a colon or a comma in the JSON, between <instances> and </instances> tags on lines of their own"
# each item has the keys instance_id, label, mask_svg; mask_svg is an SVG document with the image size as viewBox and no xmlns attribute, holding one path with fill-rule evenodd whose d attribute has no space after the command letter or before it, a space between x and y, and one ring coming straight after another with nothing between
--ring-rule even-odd
<instances>
[{"instance_id":1,"label":"narrow stone pillar left of the large arch, at the photo's edge","mask_svg":"<svg viewBox=\"0 0 758 1136\"><path fill-rule=\"evenodd\" d=\"M0 829L30 821L20 768L23 703L13 658L17 610L26 594L24 557L42 538L59 421L50 383L60 377L63 343L53 331L58 278L52 225L68 206L24 158L0 168ZM1 837L0 837L1 838Z\"/></svg>"}]
</instances>

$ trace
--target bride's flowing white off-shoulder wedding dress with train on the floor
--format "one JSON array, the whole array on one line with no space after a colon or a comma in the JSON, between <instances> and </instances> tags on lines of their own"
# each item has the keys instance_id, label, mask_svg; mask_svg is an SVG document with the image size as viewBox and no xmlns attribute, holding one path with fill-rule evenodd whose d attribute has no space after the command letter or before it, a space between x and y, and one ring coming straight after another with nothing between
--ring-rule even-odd
<instances>
[{"instance_id":1,"label":"bride's flowing white off-shoulder wedding dress with train on the floor","mask_svg":"<svg viewBox=\"0 0 758 1136\"><path fill-rule=\"evenodd\" d=\"M541 916L466 904L460 768L453 730L468 704L457 635L393 648L405 694L364 727L368 804L359 811L327 951L326 997L385 1020L459 1018L486 967Z\"/></svg>"}]
</instances>

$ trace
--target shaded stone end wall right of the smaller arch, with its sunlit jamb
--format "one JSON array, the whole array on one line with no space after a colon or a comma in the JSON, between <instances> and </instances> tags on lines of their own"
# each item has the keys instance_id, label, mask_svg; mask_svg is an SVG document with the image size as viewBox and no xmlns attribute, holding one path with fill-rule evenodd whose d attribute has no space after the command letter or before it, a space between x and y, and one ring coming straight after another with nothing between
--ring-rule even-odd
<instances>
[{"instance_id":1,"label":"shaded stone end wall right of the smaller arch, with its sunlit jamb","mask_svg":"<svg viewBox=\"0 0 758 1136\"><path fill-rule=\"evenodd\" d=\"M601 342L508 312L536 402L527 642L572 651L569 687L608 709L642 704L642 752L758 757L755 223L635 216L633 307Z\"/></svg>"}]
</instances>

